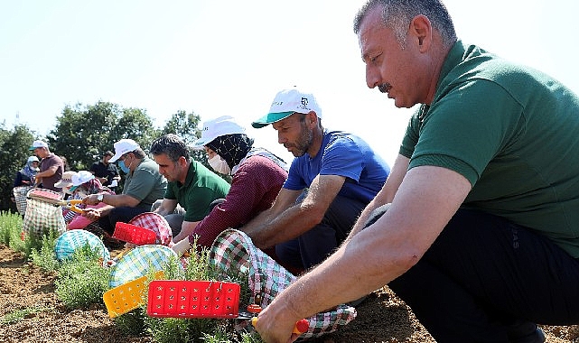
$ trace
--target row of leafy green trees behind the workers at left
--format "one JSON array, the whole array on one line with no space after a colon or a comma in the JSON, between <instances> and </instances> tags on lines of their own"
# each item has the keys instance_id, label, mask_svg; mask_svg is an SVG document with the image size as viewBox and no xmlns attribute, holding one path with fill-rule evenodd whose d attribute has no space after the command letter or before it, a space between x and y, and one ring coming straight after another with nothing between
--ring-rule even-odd
<instances>
[{"instance_id":1,"label":"row of leafy green trees behind the workers at left","mask_svg":"<svg viewBox=\"0 0 579 343\"><path fill-rule=\"evenodd\" d=\"M98 101L94 105L65 106L57 116L57 124L46 135L39 136L26 125L15 125L12 130L0 123L0 210L13 209L10 200L16 171L20 170L31 152L28 148L35 139L43 139L51 152L65 157L70 170L89 170L93 162L107 150L114 152L114 144L130 138L148 151L151 143L161 134L177 134L187 144L201 136L197 128L201 117L195 113L177 111L161 128L154 127L145 109L121 107ZM193 158L209 167L204 151L193 151ZM226 179L229 180L229 179Z\"/></svg>"}]
</instances>

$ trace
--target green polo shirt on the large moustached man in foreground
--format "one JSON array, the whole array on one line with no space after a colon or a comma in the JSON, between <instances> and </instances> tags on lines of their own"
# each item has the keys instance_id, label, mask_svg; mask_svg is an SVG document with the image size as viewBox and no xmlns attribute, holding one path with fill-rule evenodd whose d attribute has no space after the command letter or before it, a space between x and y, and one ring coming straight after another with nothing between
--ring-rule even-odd
<instances>
[{"instance_id":1,"label":"green polo shirt on the large moustached man in foreground","mask_svg":"<svg viewBox=\"0 0 579 343\"><path fill-rule=\"evenodd\" d=\"M530 227L579 257L579 97L556 79L456 42L430 107L411 117L409 168L472 184L465 208Z\"/></svg>"}]
</instances>

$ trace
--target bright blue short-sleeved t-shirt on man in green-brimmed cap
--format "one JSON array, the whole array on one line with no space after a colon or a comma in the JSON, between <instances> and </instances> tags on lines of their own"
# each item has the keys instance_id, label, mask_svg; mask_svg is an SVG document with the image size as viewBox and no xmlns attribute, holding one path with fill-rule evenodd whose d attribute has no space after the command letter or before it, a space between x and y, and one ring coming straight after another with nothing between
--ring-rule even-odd
<instances>
[{"instance_id":1,"label":"bright blue short-sleeved t-shirt on man in green-brimmed cap","mask_svg":"<svg viewBox=\"0 0 579 343\"><path fill-rule=\"evenodd\" d=\"M340 175L346 181L338 194L368 203L389 173L388 163L357 135L324 130L320 152L313 158L308 153L294 158L284 188L303 190L318 175Z\"/></svg>"}]
</instances>

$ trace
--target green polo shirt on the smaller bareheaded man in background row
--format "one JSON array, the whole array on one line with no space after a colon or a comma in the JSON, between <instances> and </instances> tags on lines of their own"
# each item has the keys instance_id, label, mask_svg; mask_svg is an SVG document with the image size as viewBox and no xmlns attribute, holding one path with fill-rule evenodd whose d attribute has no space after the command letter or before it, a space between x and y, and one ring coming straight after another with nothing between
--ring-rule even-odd
<instances>
[{"instance_id":1,"label":"green polo shirt on the smaller bareheaded man in background row","mask_svg":"<svg viewBox=\"0 0 579 343\"><path fill-rule=\"evenodd\" d=\"M191 160L185 183L167 184L165 199L176 199L185 209L185 221L200 221L209 214L210 203L223 199L229 192L229 183L211 172L200 162Z\"/></svg>"}]
</instances>

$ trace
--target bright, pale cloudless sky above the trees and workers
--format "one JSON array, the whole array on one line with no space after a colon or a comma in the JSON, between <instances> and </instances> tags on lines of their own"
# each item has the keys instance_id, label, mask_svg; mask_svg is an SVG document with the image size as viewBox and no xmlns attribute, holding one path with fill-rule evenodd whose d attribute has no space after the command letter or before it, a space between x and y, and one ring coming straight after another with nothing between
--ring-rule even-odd
<instances>
[{"instance_id":1,"label":"bright, pale cloudless sky above the trees and workers","mask_svg":"<svg viewBox=\"0 0 579 343\"><path fill-rule=\"evenodd\" d=\"M298 86L317 97L325 127L359 134L391 165L414 108L366 86L352 31L363 3L0 0L0 123L42 138L64 107L99 100L142 108L156 127L179 110L229 115L289 161L271 125L250 123ZM579 93L576 0L444 4L463 41Z\"/></svg>"}]
</instances>

